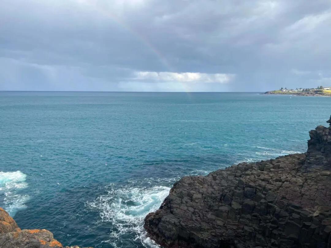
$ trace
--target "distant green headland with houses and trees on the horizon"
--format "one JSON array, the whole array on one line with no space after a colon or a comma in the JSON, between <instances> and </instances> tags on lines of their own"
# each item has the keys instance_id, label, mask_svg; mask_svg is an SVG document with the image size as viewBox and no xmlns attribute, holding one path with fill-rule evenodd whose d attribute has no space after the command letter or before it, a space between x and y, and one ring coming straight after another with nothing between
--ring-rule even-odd
<instances>
[{"instance_id":1,"label":"distant green headland with houses and trees on the horizon","mask_svg":"<svg viewBox=\"0 0 331 248\"><path fill-rule=\"evenodd\" d=\"M267 91L264 94L270 94L270 95L297 95L297 96L329 96L331 97L331 87L323 87L318 86L317 88L311 88L311 89L303 89L303 88L297 88L297 89L285 89L282 87L279 90L274 91Z\"/></svg>"}]
</instances>

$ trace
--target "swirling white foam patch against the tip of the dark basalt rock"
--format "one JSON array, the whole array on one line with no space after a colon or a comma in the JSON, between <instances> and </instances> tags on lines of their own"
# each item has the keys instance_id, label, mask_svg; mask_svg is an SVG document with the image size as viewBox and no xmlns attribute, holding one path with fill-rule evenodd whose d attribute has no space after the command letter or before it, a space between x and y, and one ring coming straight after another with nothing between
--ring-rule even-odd
<instances>
[{"instance_id":1,"label":"swirling white foam patch against the tip of the dark basalt rock","mask_svg":"<svg viewBox=\"0 0 331 248\"><path fill-rule=\"evenodd\" d=\"M123 236L134 234L134 240L139 240L145 247L159 247L146 236L143 221L148 213L160 207L170 188L110 185L107 189L107 194L97 197L93 202L87 202L88 207L99 211L101 222L110 222L113 225L109 240L105 242L121 247Z\"/></svg>"}]
</instances>

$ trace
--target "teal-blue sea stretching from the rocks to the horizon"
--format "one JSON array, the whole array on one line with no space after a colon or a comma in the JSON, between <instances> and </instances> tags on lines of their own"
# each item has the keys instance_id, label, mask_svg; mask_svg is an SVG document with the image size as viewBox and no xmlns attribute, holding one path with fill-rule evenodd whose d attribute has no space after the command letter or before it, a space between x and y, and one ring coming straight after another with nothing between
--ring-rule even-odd
<instances>
[{"instance_id":1,"label":"teal-blue sea stretching from the rocks to the horizon","mask_svg":"<svg viewBox=\"0 0 331 248\"><path fill-rule=\"evenodd\" d=\"M304 152L331 98L0 92L0 206L64 245L156 247L143 219L173 183Z\"/></svg>"}]
</instances>

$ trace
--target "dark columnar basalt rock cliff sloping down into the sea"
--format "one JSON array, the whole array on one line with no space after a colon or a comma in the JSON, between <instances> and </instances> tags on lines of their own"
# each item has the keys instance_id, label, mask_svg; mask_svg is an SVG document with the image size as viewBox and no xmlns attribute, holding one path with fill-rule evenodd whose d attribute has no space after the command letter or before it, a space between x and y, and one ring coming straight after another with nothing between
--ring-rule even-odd
<instances>
[{"instance_id":1,"label":"dark columnar basalt rock cliff sloping down into the sea","mask_svg":"<svg viewBox=\"0 0 331 248\"><path fill-rule=\"evenodd\" d=\"M309 134L307 153L182 178L146 216L149 236L165 247L331 247L331 127Z\"/></svg>"}]
</instances>

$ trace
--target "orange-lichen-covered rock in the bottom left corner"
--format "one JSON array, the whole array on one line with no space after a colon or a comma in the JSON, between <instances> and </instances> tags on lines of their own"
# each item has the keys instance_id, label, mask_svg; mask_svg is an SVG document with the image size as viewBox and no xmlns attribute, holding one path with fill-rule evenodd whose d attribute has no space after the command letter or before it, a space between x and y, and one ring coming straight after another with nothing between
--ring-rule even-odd
<instances>
[{"instance_id":1,"label":"orange-lichen-covered rock in the bottom left corner","mask_svg":"<svg viewBox=\"0 0 331 248\"><path fill-rule=\"evenodd\" d=\"M21 230L9 214L0 208L0 247L1 248L63 248L54 239L53 233L45 229ZM66 248L79 248L71 246Z\"/></svg>"}]
</instances>

